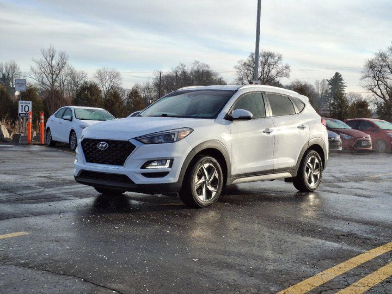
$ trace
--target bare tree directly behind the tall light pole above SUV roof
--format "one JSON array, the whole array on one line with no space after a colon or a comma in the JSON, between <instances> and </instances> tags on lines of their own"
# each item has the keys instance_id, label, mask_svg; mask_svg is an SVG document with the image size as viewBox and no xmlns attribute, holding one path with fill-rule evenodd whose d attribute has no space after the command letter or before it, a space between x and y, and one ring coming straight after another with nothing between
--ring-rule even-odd
<instances>
[{"instance_id":1,"label":"bare tree directly behind the tall light pole above SUV roof","mask_svg":"<svg viewBox=\"0 0 392 294\"><path fill-rule=\"evenodd\" d=\"M236 83L244 85L252 83L254 73L254 53L234 66ZM283 63L283 56L272 51L262 51L259 58L258 80L262 85L281 86L281 78L290 77L290 65Z\"/></svg>"}]
</instances>

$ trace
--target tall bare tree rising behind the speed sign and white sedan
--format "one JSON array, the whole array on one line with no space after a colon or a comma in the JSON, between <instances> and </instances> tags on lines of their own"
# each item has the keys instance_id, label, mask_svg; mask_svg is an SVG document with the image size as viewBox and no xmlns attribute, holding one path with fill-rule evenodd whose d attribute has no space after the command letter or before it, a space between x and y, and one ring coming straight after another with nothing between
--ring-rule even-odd
<instances>
[{"instance_id":1,"label":"tall bare tree rising behind the speed sign and white sedan","mask_svg":"<svg viewBox=\"0 0 392 294\"><path fill-rule=\"evenodd\" d=\"M41 57L33 58L28 76L45 93L45 105L50 114L64 106L64 96L60 90L60 76L67 67L68 56L65 52L57 52L53 46L41 49Z\"/></svg>"}]
</instances>

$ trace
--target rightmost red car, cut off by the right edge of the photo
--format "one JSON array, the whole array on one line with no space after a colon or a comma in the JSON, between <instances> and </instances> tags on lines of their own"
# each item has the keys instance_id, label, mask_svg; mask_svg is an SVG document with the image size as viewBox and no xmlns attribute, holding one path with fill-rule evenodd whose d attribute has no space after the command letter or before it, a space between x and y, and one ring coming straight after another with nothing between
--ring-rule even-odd
<instances>
[{"instance_id":1,"label":"rightmost red car, cut off by the right edge of the photo","mask_svg":"<svg viewBox=\"0 0 392 294\"><path fill-rule=\"evenodd\" d=\"M375 118L353 118L345 122L353 129L370 135L378 152L392 151L392 123Z\"/></svg>"}]
</instances>

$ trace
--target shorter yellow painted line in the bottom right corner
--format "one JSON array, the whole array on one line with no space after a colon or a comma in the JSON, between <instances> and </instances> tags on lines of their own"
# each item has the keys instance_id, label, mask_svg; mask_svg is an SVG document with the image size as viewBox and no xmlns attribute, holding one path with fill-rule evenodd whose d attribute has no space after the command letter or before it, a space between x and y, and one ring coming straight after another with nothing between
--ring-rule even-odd
<instances>
[{"instance_id":1,"label":"shorter yellow painted line in the bottom right corner","mask_svg":"<svg viewBox=\"0 0 392 294\"><path fill-rule=\"evenodd\" d=\"M392 276L392 262L387 265L379 268L375 272L367 275L366 277L356 281L354 284L349 287L340 290L339 294L360 294L363 293L370 288L376 286L378 283L381 283L388 277Z\"/></svg>"}]
</instances>

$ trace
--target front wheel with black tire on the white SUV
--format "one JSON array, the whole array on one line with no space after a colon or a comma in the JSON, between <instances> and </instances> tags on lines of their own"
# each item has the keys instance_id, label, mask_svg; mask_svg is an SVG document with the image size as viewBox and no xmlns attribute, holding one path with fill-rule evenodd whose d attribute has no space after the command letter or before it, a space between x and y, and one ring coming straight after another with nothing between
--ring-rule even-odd
<instances>
[{"instance_id":1,"label":"front wheel with black tire on the white SUV","mask_svg":"<svg viewBox=\"0 0 392 294\"><path fill-rule=\"evenodd\" d=\"M219 162L211 156L199 156L185 174L179 195L187 207L207 207L218 201L222 186Z\"/></svg>"}]
</instances>

